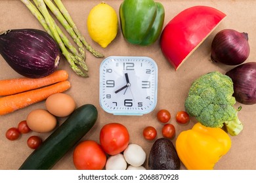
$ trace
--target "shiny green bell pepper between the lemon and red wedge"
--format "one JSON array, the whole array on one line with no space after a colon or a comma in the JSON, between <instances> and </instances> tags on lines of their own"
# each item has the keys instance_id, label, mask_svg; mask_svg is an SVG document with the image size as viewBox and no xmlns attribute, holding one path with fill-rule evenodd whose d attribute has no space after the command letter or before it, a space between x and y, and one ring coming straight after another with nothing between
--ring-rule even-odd
<instances>
[{"instance_id":1,"label":"shiny green bell pepper between the lemon and red wedge","mask_svg":"<svg viewBox=\"0 0 256 183\"><path fill-rule=\"evenodd\" d=\"M154 0L124 0L119 16L123 37L131 44L148 46L161 34L165 10Z\"/></svg>"}]
</instances>

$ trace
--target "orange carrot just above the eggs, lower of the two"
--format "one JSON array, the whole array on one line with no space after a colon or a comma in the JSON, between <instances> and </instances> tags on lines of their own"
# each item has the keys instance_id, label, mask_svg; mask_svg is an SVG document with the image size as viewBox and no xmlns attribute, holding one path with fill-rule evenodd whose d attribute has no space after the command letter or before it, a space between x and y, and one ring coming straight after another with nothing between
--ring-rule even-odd
<instances>
[{"instance_id":1,"label":"orange carrot just above the eggs, lower of the two","mask_svg":"<svg viewBox=\"0 0 256 183\"><path fill-rule=\"evenodd\" d=\"M56 84L45 86L36 90L8 95L0 98L0 115L8 114L14 110L27 107L33 103L43 101L54 93L60 93L70 88L68 80L58 82Z\"/></svg>"}]
</instances>

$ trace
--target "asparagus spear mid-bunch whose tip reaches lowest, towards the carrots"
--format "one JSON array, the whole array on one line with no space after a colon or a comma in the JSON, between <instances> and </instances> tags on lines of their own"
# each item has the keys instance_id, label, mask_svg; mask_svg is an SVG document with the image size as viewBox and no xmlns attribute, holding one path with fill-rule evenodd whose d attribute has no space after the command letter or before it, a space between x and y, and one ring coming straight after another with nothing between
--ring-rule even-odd
<instances>
[{"instance_id":1,"label":"asparagus spear mid-bunch whose tip reaches lowest, towards the carrots","mask_svg":"<svg viewBox=\"0 0 256 183\"><path fill-rule=\"evenodd\" d=\"M47 7L43 0L37 0L37 8L41 11L43 14L43 17L45 18L45 21L47 22L47 25L51 29L51 33L53 34L54 39L56 42L58 42L58 45L60 46L60 50L62 50L62 54L67 59L68 63L70 63L70 67L77 73L79 76L87 77L87 73L83 73L77 65L75 65L75 58L66 50L66 47L64 46L64 43L62 42L60 35L58 35L58 32L56 31L56 27L54 25L54 22L51 20L51 15L49 14Z\"/></svg>"}]
</instances>

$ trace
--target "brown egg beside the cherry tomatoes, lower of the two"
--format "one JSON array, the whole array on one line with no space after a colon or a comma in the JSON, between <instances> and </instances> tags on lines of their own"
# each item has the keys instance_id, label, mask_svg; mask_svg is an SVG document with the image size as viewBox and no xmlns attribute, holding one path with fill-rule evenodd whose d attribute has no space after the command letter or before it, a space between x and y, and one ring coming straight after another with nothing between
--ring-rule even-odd
<instances>
[{"instance_id":1,"label":"brown egg beside the cherry tomatoes, lower of the two","mask_svg":"<svg viewBox=\"0 0 256 183\"><path fill-rule=\"evenodd\" d=\"M27 116L27 124L32 131L46 133L56 127L57 120L50 112L44 109L32 110Z\"/></svg>"}]
</instances>

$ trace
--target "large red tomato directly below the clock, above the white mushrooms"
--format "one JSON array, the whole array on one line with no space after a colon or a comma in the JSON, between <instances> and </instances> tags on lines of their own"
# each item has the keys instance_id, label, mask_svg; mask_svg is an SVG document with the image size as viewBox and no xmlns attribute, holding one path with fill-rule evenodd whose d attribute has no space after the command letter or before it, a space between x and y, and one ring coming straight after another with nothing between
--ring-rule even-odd
<instances>
[{"instance_id":1,"label":"large red tomato directly below the clock, above the white mushrooms","mask_svg":"<svg viewBox=\"0 0 256 183\"><path fill-rule=\"evenodd\" d=\"M129 144L129 138L127 128L122 124L106 124L100 130L100 144L109 155L123 152Z\"/></svg>"}]
</instances>

